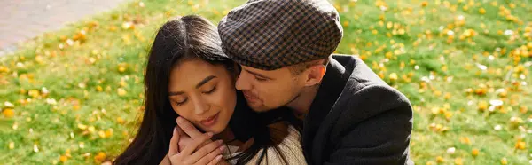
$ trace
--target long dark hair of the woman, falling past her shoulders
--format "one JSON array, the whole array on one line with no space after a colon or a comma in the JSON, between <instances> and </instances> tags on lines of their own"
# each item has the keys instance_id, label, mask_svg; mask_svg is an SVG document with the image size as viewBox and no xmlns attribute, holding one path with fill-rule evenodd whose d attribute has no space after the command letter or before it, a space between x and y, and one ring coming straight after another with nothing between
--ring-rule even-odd
<instances>
[{"instance_id":1,"label":"long dark hair of the woman, falling past her shoulders","mask_svg":"<svg viewBox=\"0 0 532 165\"><path fill-rule=\"evenodd\" d=\"M137 136L116 158L114 164L159 164L168 153L177 117L168 100L169 75L172 67L180 61L190 59L223 65L237 75L238 67L223 54L220 37L212 23L195 15L169 20L160 27L148 57L145 70L145 112ZM235 159L237 164L245 164L262 150L257 161L259 163L266 157L266 149L273 147L287 162L277 146L285 137L274 136L287 130L271 129L268 124L278 120L278 112L288 110L278 109L268 114L257 114L241 97L238 97L237 105L229 127L236 138L254 138L254 144L231 159Z\"/></svg>"}]
</instances>

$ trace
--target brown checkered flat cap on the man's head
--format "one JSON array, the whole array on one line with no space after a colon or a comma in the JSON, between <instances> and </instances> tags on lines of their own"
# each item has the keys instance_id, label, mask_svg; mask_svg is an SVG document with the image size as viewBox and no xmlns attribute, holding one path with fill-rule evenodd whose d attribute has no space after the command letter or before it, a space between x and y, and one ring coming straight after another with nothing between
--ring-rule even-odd
<instances>
[{"instance_id":1,"label":"brown checkered flat cap on the man's head","mask_svg":"<svg viewBox=\"0 0 532 165\"><path fill-rule=\"evenodd\" d=\"M327 0L250 0L231 10L218 32L231 59L275 70L329 57L343 29Z\"/></svg>"}]
</instances>

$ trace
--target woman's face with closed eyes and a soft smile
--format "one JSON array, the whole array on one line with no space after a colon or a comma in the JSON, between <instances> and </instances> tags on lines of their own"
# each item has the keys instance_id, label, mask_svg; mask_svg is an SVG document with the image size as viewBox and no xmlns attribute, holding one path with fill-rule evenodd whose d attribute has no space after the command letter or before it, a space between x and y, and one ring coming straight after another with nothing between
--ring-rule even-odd
<instances>
[{"instance_id":1,"label":"woman's face with closed eyes and a soft smile","mask_svg":"<svg viewBox=\"0 0 532 165\"><path fill-rule=\"evenodd\" d=\"M170 71L168 98L174 111L201 130L222 132L234 112L236 95L233 78L223 65L192 59Z\"/></svg>"}]
</instances>

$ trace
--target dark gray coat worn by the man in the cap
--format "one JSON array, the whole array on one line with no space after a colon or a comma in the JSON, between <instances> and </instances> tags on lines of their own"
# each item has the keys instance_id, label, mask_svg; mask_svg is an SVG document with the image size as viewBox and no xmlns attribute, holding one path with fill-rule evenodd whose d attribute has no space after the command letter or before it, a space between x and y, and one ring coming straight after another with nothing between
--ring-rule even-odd
<instances>
[{"instance_id":1,"label":"dark gray coat worn by the man in the cap","mask_svg":"<svg viewBox=\"0 0 532 165\"><path fill-rule=\"evenodd\" d=\"M303 124L309 164L413 164L408 98L355 56L332 56Z\"/></svg>"}]
</instances>

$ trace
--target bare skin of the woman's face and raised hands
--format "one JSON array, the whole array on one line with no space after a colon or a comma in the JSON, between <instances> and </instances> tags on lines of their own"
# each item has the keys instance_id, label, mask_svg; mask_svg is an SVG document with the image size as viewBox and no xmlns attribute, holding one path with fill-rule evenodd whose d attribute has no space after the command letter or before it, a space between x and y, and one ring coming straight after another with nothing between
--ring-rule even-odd
<instances>
[{"instance_id":1,"label":"bare skin of the woman's face and raised hands","mask_svg":"<svg viewBox=\"0 0 532 165\"><path fill-rule=\"evenodd\" d=\"M223 140L213 142L211 138L214 134L228 135L224 132L229 131L226 128L237 102L232 82L222 65L199 59L185 60L172 68L168 98L180 115L176 120L179 127L160 164L227 164L222 160ZM206 120L211 122L206 124Z\"/></svg>"}]
</instances>

